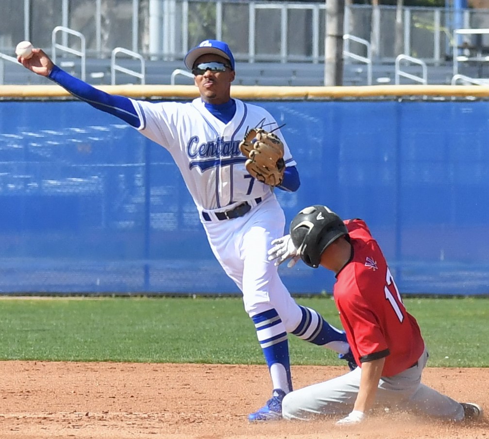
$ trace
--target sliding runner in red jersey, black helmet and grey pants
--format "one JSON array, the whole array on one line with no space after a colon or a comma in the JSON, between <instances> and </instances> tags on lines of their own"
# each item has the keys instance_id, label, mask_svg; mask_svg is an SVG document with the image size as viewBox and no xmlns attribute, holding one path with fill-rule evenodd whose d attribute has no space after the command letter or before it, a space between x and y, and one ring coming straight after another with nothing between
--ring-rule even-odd
<instances>
[{"instance_id":1,"label":"sliding runner in red jersey, black helmet and grey pants","mask_svg":"<svg viewBox=\"0 0 489 439\"><path fill-rule=\"evenodd\" d=\"M343 221L326 206L300 211L290 234L272 242L276 265L301 258L336 277L333 296L358 364L349 373L287 394L286 419L342 416L361 422L373 408L462 421L482 416L477 404L459 403L421 383L428 353L416 319L406 311L377 241L360 219Z\"/></svg>"}]
</instances>

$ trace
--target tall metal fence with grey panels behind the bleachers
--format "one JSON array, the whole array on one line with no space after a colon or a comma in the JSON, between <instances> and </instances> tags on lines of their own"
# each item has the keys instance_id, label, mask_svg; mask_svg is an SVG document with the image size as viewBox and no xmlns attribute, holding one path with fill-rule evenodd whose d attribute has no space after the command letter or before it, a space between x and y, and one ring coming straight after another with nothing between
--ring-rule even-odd
<instances>
[{"instance_id":1,"label":"tall metal fence with grey panels behind the bleachers","mask_svg":"<svg viewBox=\"0 0 489 439\"><path fill-rule=\"evenodd\" d=\"M324 60L326 2L249 0L2 0L9 20L0 23L0 52L13 54L19 41L50 47L51 31L64 26L83 33L87 54L107 57L124 47L147 58L180 59L201 40L227 41L239 61ZM371 43L374 60L399 54L425 62L451 60L455 28L489 27L489 9L352 5L344 33ZM64 35L62 44L79 41ZM486 41L487 40L487 41ZM478 36L489 47L489 36ZM359 54L364 50L359 47Z\"/></svg>"}]
</instances>

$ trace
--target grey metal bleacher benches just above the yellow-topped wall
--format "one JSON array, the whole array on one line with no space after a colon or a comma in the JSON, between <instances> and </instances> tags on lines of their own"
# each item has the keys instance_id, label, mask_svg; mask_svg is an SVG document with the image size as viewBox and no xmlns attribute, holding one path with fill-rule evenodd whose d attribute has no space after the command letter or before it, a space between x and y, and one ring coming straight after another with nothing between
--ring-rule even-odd
<instances>
[{"instance_id":1,"label":"grey metal bleacher benches just above the yellow-topped wall","mask_svg":"<svg viewBox=\"0 0 489 439\"><path fill-rule=\"evenodd\" d=\"M57 64L68 72L80 76L80 59L76 57L61 57ZM140 71L139 60L133 58L118 57L117 64L134 71ZM171 74L175 69L184 69L182 60L146 60L145 61L145 83L148 85L170 84ZM480 66L464 65L460 71L466 76L480 78L489 76L481 71ZM420 66L402 66L403 71L421 76ZM428 84L450 84L453 76L451 62L440 65L428 65ZM116 84L133 83L139 84L138 78L117 71L115 74ZM389 78L390 82L378 81L378 78ZM111 59L88 57L86 59L86 81L93 85L104 85L111 83ZM176 84L193 84L192 78L178 75ZM32 74L22 66L15 63L4 63L5 84L47 84L46 79ZM374 63L372 66L372 84L394 84L395 65L392 63ZM401 78L401 83L414 84L407 78ZM236 63L236 85L277 85L277 86L316 86L324 84L324 65L321 63L280 63L280 62L237 62ZM367 69L364 64L345 62L343 69L343 85L366 85Z\"/></svg>"}]
</instances>

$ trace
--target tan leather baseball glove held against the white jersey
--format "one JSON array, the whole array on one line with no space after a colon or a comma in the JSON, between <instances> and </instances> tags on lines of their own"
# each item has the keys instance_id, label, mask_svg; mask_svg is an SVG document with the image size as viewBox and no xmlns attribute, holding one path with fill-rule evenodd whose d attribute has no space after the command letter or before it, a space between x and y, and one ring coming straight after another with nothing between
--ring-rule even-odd
<instances>
[{"instance_id":1,"label":"tan leather baseball glove held against the white jersey","mask_svg":"<svg viewBox=\"0 0 489 439\"><path fill-rule=\"evenodd\" d=\"M275 134L262 128L249 130L240 143L248 160L244 163L249 174L259 182L277 186L284 179L284 144Z\"/></svg>"}]
</instances>

